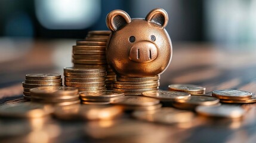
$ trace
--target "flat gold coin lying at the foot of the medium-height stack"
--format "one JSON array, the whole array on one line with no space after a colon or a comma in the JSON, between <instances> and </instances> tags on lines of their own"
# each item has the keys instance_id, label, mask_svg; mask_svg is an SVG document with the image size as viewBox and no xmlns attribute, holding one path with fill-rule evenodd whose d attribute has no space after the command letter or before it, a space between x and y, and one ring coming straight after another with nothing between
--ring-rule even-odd
<instances>
[{"instance_id":1,"label":"flat gold coin lying at the foot of the medium-height stack","mask_svg":"<svg viewBox=\"0 0 256 143\"><path fill-rule=\"evenodd\" d=\"M85 91L79 93L82 98L110 98L124 95L124 92L113 90Z\"/></svg>"}]
</instances>

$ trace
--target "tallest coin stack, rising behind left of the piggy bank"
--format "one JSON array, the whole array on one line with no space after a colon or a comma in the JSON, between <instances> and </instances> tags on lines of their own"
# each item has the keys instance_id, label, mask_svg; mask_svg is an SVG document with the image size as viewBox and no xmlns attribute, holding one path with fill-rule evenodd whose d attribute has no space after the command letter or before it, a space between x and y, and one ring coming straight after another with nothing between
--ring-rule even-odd
<instances>
[{"instance_id":1,"label":"tallest coin stack, rising behind left of the piggy bank","mask_svg":"<svg viewBox=\"0 0 256 143\"><path fill-rule=\"evenodd\" d=\"M107 65L106 44L110 31L90 31L85 41L77 41L73 46L74 67L104 67L107 70L106 88L112 89L112 84L116 80L116 74Z\"/></svg>"}]
</instances>

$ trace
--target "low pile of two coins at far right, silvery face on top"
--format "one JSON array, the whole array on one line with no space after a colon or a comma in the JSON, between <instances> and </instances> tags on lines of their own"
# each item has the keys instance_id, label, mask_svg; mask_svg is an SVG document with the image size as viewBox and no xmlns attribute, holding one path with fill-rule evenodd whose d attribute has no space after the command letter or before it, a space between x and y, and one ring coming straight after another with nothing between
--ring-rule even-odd
<instances>
[{"instance_id":1,"label":"low pile of two coins at far right, silvery face on top","mask_svg":"<svg viewBox=\"0 0 256 143\"><path fill-rule=\"evenodd\" d=\"M212 97L220 99L220 102L226 103L254 103L256 102L256 97L252 96L251 92L239 91L235 89L223 89L212 91Z\"/></svg>"}]
</instances>

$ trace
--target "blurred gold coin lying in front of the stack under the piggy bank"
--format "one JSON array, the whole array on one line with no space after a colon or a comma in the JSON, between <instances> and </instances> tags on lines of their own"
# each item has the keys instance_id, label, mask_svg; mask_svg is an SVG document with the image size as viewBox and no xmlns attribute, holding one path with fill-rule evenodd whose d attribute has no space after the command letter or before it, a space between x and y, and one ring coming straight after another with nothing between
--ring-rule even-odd
<instances>
[{"instance_id":1,"label":"blurred gold coin lying in front of the stack under the piggy bank","mask_svg":"<svg viewBox=\"0 0 256 143\"><path fill-rule=\"evenodd\" d=\"M140 96L125 96L124 101L118 102L116 104L120 105L131 105L131 106L149 106L159 104L159 100L149 97Z\"/></svg>"}]
</instances>

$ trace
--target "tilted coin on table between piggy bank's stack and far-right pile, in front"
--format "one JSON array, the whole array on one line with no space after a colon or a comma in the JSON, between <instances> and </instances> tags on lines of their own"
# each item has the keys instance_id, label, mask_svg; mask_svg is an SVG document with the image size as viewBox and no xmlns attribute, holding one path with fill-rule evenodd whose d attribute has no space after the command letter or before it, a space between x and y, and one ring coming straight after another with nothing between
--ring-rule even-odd
<instances>
[{"instance_id":1,"label":"tilted coin on table between piggy bank's stack and far-right pile, in front","mask_svg":"<svg viewBox=\"0 0 256 143\"><path fill-rule=\"evenodd\" d=\"M172 103L176 108L193 110L198 105L216 105L220 100L207 95L191 96L189 100L178 100Z\"/></svg>"}]
</instances>

